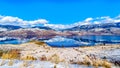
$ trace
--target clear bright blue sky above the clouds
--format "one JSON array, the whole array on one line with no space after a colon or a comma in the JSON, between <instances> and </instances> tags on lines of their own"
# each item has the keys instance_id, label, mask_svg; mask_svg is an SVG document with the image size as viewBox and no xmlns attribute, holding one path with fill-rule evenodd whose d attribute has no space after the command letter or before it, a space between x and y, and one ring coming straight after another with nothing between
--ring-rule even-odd
<instances>
[{"instance_id":1,"label":"clear bright blue sky above the clouds","mask_svg":"<svg viewBox=\"0 0 120 68\"><path fill-rule=\"evenodd\" d=\"M0 0L0 15L72 24L88 17L120 14L120 0Z\"/></svg>"}]
</instances>

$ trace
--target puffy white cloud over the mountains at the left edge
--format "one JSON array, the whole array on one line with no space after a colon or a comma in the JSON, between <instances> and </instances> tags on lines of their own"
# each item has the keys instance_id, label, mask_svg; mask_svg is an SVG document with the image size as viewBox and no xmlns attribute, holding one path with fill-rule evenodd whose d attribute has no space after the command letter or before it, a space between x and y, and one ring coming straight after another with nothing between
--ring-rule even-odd
<instances>
[{"instance_id":1,"label":"puffy white cloud over the mountains at the left edge","mask_svg":"<svg viewBox=\"0 0 120 68\"><path fill-rule=\"evenodd\" d=\"M38 19L34 21L26 21L18 17L12 16L1 16L0 15L0 24L4 25L17 25L17 26L32 26L37 24L46 24L48 21L46 19Z\"/></svg>"}]
</instances>

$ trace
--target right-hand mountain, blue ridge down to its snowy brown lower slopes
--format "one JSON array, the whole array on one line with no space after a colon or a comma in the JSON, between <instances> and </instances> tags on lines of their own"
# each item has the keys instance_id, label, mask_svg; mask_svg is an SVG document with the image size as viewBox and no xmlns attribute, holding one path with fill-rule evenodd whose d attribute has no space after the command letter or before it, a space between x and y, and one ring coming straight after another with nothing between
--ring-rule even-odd
<instances>
[{"instance_id":1,"label":"right-hand mountain, blue ridge down to its snowy brown lower slopes","mask_svg":"<svg viewBox=\"0 0 120 68\"><path fill-rule=\"evenodd\" d=\"M63 31L79 31L83 35L120 35L120 22L79 25Z\"/></svg>"}]
</instances>

